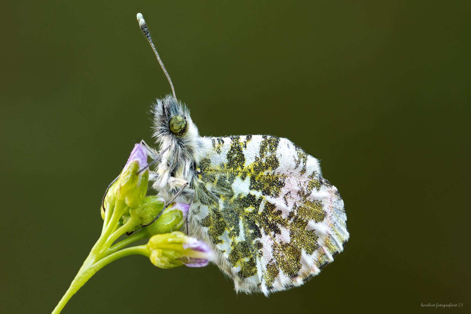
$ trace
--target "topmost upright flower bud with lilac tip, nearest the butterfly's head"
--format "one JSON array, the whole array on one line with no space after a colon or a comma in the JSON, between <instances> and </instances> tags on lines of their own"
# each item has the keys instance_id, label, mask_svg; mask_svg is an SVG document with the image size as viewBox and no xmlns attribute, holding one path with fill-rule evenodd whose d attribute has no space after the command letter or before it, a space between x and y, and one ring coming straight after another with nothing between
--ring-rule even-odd
<instances>
[{"instance_id":1,"label":"topmost upright flower bud with lilac tip, nearest the butterfly's head","mask_svg":"<svg viewBox=\"0 0 471 314\"><path fill-rule=\"evenodd\" d=\"M117 181L116 197L124 200L130 208L137 207L147 192L149 169L139 172L147 166L147 150L141 144L134 145L128 162L122 169Z\"/></svg>"}]
</instances>

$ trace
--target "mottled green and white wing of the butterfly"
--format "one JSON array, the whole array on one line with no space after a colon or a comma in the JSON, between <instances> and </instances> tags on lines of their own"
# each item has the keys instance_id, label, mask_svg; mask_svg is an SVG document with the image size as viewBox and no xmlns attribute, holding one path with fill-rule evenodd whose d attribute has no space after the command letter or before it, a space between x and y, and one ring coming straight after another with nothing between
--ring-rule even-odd
<instances>
[{"instance_id":1,"label":"mottled green and white wing of the butterfly","mask_svg":"<svg viewBox=\"0 0 471 314\"><path fill-rule=\"evenodd\" d=\"M283 138L206 139L212 151L196 167L190 234L213 246L236 290L299 286L342 251L343 201L316 158Z\"/></svg>"}]
</instances>

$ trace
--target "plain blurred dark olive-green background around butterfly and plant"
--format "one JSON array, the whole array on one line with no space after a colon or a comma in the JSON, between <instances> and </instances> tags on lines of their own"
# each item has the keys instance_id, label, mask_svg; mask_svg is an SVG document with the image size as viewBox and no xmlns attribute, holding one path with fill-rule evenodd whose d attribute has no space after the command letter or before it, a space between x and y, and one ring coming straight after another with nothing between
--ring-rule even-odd
<instances>
[{"instance_id":1,"label":"plain blurred dark olive-green background around butterfly and plant","mask_svg":"<svg viewBox=\"0 0 471 314\"><path fill-rule=\"evenodd\" d=\"M236 295L217 266L129 256L62 313L469 308L470 1L7 1L1 33L2 313L50 313L99 204L170 87L201 135L272 134L321 159L350 240L299 288ZM430 310L430 309L428 309Z\"/></svg>"}]
</instances>

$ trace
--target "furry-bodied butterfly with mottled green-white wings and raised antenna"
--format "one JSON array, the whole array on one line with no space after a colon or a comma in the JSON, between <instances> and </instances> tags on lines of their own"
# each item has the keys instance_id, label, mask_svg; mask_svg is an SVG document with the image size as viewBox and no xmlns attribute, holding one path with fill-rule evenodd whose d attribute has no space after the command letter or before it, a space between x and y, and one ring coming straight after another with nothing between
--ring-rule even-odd
<instances>
[{"instance_id":1,"label":"furry-bodied butterfly with mottled green-white wings and raised antenna","mask_svg":"<svg viewBox=\"0 0 471 314\"><path fill-rule=\"evenodd\" d=\"M152 108L160 163L149 180L158 195L189 203L185 229L208 243L236 291L300 286L333 261L349 239L343 200L319 161L290 140L268 135L200 136L177 100L144 18L137 15L172 95Z\"/></svg>"}]
</instances>

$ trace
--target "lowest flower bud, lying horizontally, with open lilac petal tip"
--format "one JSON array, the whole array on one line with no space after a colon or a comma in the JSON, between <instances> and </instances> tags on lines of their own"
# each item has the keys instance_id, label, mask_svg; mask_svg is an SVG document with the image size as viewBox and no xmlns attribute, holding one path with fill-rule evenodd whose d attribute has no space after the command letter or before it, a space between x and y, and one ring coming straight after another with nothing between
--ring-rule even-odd
<instances>
[{"instance_id":1,"label":"lowest flower bud, lying horizontally, with open lilac petal tip","mask_svg":"<svg viewBox=\"0 0 471 314\"><path fill-rule=\"evenodd\" d=\"M203 241L179 231L154 235L149 239L147 249L151 263L163 269L183 265L203 267L214 258L213 252Z\"/></svg>"}]
</instances>

